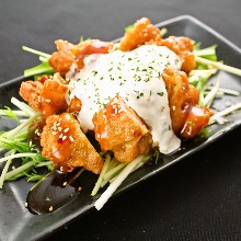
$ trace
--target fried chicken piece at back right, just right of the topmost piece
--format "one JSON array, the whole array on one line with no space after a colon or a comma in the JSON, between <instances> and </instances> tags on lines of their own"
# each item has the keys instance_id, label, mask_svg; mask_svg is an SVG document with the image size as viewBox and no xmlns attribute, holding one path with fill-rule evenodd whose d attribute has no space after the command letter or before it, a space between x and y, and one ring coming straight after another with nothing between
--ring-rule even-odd
<instances>
[{"instance_id":1,"label":"fried chicken piece at back right, just right of the topmost piece","mask_svg":"<svg viewBox=\"0 0 241 241\"><path fill-rule=\"evenodd\" d=\"M167 46L173 50L182 60L181 70L188 73L195 69L196 61L193 54L193 41L188 37L170 36L162 39L162 46Z\"/></svg>"}]
</instances>

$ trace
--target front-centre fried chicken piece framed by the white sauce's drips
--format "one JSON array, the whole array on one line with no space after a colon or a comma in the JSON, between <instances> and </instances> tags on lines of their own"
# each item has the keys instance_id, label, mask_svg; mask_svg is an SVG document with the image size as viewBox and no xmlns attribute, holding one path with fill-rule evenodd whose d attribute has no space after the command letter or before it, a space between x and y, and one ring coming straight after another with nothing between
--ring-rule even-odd
<instances>
[{"instance_id":1,"label":"front-centre fried chicken piece framed by the white sauce's drips","mask_svg":"<svg viewBox=\"0 0 241 241\"><path fill-rule=\"evenodd\" d=\"M120 162L130 162L152 147L150 129L119 96L94 115L93 124L102 151L112 150Z\"/></svg>"}]
</instances>

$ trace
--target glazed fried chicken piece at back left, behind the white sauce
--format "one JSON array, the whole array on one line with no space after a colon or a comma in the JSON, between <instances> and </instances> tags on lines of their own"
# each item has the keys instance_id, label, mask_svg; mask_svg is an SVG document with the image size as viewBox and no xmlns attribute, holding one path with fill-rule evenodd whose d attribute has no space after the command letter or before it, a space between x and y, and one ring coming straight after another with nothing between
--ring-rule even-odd
<instances>
[{"instance_id":1,"label":"glazed fried chicken piece at back left, behind the white sauce","mask_svg":"<svg viewBox=\"0 0 241 241\"><path fill-rule=\"evenodd\" d=\"M53 53L49 65L55 72L66 74L70 67L76 64L78 69L83 68L83 59L91 54L107 54L113 47L113 43L99 39L88 39L73 45L67 41L58 39L55 42L58 51Z\"/></svg>"}]
</instances>

